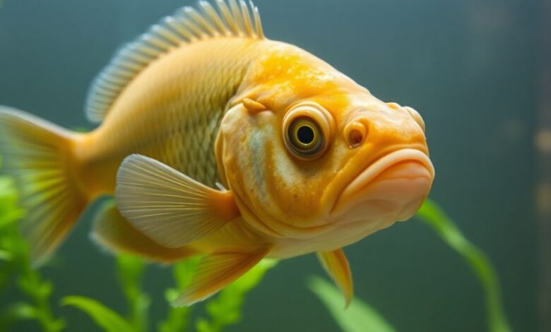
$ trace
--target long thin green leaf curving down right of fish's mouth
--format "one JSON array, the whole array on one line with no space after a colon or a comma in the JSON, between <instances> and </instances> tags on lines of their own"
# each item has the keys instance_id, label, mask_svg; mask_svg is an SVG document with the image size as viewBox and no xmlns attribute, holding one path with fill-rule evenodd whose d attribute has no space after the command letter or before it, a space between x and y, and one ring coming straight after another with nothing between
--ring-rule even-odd
<instances>
[{"instance_id":1,"label":"long thin green leaf curving down right of fish's mouth","mask_svg":"<svg viewBox=\"0 0 551 332\"><path fill-rule=\"evenodd\" d=\"M434 201L427 199L417 212L417 217L432 227L451 249L463 256L477 276L485 292L489 331L511 331L503 311L499 280L490 259L463 236L456 224Z\"/></svg>"}]
</instances>

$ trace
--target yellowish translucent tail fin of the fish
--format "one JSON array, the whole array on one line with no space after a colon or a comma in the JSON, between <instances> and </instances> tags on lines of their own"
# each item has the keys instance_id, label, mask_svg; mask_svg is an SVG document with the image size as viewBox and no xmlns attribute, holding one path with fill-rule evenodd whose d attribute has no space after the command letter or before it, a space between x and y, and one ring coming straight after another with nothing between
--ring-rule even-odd
<instances>
[{"instance_id":1,"label":"yellowish translucent tail fin of the fish","mask_svg":"<svg viewBox=\"0 0 551 332\"><path fill-rule=\"evenodd\" d=\"M34 266L53 254L88 203L71 170L77 135L0 106L2 170L18 184L20 205L26 211L20 230Z\"/></svg>"}]
</instances>

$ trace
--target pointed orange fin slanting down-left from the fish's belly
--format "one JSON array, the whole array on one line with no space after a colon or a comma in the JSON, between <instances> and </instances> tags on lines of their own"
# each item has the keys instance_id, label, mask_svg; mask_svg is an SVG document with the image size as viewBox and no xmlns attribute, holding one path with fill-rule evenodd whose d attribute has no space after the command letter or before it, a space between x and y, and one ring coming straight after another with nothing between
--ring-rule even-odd
<instances>
[{"instance_id":1,"label":"pointed orange fin slanting down-left from the fish's belly","mask_svg":"<svg viewBox=\"0 0 551 332\"><path fill-rule=\"evenodd\" d=\"M269 249L253 252L220 252L205 256L197 268L191 284L173 304L189 306L214 295L241 275L249 271Z\"/></svg>"}]
</instances>

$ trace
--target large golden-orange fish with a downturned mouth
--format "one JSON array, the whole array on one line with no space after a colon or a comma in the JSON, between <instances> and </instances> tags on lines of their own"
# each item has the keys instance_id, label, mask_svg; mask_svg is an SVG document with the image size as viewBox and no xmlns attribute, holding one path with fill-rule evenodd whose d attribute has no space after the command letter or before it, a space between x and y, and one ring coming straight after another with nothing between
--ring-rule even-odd
<instances>
[{"instance_id":1,"label":"large golden-orange fish with a downturned mouth","mask_svg":"<svg viewBox=\"0 0 551 332\"><path fill-rule=\"evenodd\" d=\"M100 71L90 132L0 107L0 153L28 211L33 266L84 209L110 251L201 261L175 305L262 259L316 253L348 304L343 247L411 218L434 180L425 122L306 50L268 39L251 2L199 1Z\"/></svg>"}]
</instances>

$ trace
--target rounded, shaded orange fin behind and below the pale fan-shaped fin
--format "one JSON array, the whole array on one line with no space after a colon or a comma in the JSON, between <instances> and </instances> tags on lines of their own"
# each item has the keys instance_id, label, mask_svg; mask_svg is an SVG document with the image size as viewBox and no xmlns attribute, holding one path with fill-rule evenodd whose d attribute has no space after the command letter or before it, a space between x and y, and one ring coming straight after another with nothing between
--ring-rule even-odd
<instances>
[{"instance_id":1,"label":"rounded, shaded orange fin behind and below the pale fan-shaped fin","mask_svg":"<svg viewBox=\"0 0 551 332\"><path fill-rule=\"evenodd\" d=\"M146 237L124 219L117 211L114 201L103 204L93 224L93 239L111 251L125 251L163 263L171 263L196 254L196 251L188 247L162 247Z\"/></svg>"}]
</instances>

